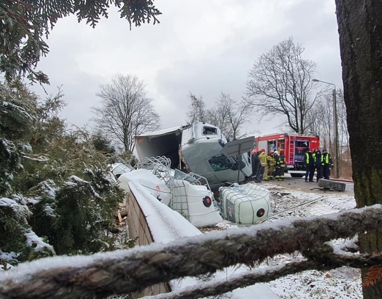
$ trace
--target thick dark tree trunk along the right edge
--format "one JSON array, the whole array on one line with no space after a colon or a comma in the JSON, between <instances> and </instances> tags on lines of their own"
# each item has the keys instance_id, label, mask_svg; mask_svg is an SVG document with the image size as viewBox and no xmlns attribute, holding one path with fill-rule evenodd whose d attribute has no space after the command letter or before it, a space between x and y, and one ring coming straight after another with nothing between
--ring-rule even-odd
<instances>
[{"instance_id":1,"label":"thick dark tree trunk along the right edge","mask_svg":"<svg viewBox=\"0 0 382 299\"><path fill-rule=\"evenodd\" d=\"M358 207L382 203L382 1L335 0L344 101ZM382 251L382 230L359 236L363 252ZM363 269L363 282L367 281ZM382 298L382 282L363 288Z\"/></svg>"}]
</instances>

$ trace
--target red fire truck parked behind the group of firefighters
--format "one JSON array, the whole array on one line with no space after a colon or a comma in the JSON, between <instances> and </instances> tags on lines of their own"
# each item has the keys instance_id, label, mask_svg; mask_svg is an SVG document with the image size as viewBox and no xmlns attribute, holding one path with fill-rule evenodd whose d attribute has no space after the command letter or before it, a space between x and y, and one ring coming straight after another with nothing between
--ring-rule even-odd
<instances>
[{"instance_id":1,"label":"red fire truck parked behind the group of firefighters","mask_svg":"<svg viewBox=\"0 0 382 299\"><path fill-rule=\"evenodd\" d=\"M317 135L303 135L297 133L279 133L265 135L255 138L256 149L269 151L284 150L285 166L290 176L302 178L305 175L306 167L304 164L304 154L306 148L312 151L319 148L319 137Z\"/></svg>"}]
</instances>

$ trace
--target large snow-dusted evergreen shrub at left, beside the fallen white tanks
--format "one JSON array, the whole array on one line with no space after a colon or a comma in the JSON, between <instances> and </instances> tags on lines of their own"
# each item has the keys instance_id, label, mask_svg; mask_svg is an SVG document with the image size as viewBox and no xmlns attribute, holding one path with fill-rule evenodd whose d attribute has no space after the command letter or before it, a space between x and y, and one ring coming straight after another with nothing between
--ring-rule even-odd
<instances>
[{"instance_id":1,"label":"large snow-dusted evergreen shrub at left, beside the fallen white tanks","mask_svg":"<svg viewBox=\"0 0 382 299\"><path fill-rule=\"evenodd\" d=\"M0 265L121 244L110 227L123 193L86 130L68 131L62 94L40 101L0 83Z\"/></svg>"}]
</instances>

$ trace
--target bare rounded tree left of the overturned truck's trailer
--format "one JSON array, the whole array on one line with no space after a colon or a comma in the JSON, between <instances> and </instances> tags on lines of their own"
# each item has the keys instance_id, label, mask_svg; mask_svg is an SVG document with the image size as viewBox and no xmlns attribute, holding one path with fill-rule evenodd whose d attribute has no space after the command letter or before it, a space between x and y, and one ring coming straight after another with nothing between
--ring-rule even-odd
<instances>
[{"instance_id":1,"label":"bare rounded tree left of the overturned truck's trailer","mask_svg":"<svg viewBox=\"0 0 382 299\"><path fill-rule=\"evenodd\" d=\"M153 108L153 100L147 98L144 87L137 76L119 74L111 84L101 85L96 94L101 98L101 107L92 107L96 115L92 121L97 127L122 143L124 151L131 153L135 135L160 127L160 117Z\"/></svg>"}]
</instances>

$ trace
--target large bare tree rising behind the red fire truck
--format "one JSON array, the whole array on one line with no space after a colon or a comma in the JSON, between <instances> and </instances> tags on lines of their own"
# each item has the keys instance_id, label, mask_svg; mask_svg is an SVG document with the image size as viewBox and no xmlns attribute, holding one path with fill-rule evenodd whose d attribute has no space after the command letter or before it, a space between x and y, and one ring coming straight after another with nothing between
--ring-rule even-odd
<instances>
[{"instance_id":1,"label":"large bare tree rising behind the red fire truck","mask_svg":"<svg viewBox=\"0 0 382 299\"><path fill-rule=\"evenodd\" d=\"M248 74L247 98L257 112L282 115L297 133L308 127L306 114L322 92L315 92L312 75L316 64L301 57L304 48L293 38L283 40L260 55Z\"/></svg>"}]
</instances>

